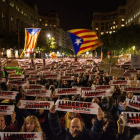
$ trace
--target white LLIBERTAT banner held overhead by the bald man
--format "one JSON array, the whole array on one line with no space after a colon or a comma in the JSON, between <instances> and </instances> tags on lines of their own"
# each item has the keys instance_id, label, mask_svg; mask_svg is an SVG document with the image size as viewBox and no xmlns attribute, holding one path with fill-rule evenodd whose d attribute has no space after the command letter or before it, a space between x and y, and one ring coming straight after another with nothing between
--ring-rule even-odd
<instances>
[{"instance_id":1,"label":"white LLIBERTAT banner held overhead by the bald man","mask_svg":"<svg viewBox=\"0 0 140 140\"><path fill-rule=\"evenodd\" d=\"M78 102L68 100L57 100L56 110L84 114L98 114L98 104L90 102Z\"/></svg>"}]
</instances>

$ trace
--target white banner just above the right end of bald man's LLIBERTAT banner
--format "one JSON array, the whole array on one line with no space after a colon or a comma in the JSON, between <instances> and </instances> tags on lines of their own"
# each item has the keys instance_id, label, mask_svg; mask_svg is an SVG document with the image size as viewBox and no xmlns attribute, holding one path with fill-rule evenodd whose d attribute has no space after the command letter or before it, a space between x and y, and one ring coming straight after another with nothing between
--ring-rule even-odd
<instances>
[{"instance_id":1,"label":"white banner just above the right end of bald man's LLIBERTAT banner","mask_svg":"<svg viewBox=\"0 0 140 140\"><path fill-rule=\"evenodd\" d=\"M112 96L110 89L102 91L82 91L82 97L93 98L93 97L102 97L102 96Z\"/></svg>"}]
</instances>

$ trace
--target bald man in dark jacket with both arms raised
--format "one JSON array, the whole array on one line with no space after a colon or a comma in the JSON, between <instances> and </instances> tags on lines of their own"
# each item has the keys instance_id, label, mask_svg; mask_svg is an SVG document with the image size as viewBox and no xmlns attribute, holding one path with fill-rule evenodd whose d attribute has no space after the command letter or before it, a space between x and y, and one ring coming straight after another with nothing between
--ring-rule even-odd
<instances>
[{"instance_id":1,"label":"bald man in dark jacket with both arms raised","mask_svg":"<svg viewBox=\"0 0 140 140\"><path fill-rule=\"evenodd\" d=\"M79 118L74 118L70 122L69 130L62 128L58 122L55 105L50 107L48 115L49 124L54 135L59 140L99 140L103 132L103 111L99 108L97 118L91 130L84 128Z\"/></svg>"}]
</instances>

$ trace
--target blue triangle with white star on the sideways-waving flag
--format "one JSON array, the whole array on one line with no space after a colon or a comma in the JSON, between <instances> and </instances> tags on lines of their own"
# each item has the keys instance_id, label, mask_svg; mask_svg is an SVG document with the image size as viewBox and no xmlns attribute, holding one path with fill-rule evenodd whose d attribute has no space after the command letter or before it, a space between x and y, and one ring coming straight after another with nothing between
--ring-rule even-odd
<instances>
[{"instance_id":1,"label":"blue triangle with white star on the sideways-waving flag","mask_svg":"<svg viewBox=\"0 0 140 140\"><path fill-rule=\"evenodd\" d=\"M84 40L81 37L76 36L72 33L69 33L69 35L70 35L70 38L71 38L71 42L72 42L72 45L73 45L75 55L77 55L77 53L79 52L79 49L80 49L82 43L84 42Z\"/></svg>"}]
</instances>

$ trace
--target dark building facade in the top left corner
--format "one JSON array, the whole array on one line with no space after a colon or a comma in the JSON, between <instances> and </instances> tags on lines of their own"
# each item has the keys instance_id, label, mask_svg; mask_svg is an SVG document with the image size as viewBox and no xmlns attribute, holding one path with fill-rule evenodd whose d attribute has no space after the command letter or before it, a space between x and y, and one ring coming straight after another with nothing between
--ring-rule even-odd
<instances>
[{"instance_id":1,"label":"dark building facade in the top left corner","mask_svg":"<svg viewBox=\"0 0 140 140\"><path fill-rule=\"evenodd\" d=\"M25 28L38 27L38 8L23 0L0 0L0 36L24 32Z\"/></svg>"}]
</instances>

